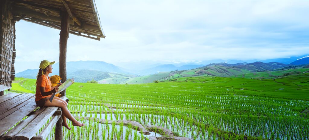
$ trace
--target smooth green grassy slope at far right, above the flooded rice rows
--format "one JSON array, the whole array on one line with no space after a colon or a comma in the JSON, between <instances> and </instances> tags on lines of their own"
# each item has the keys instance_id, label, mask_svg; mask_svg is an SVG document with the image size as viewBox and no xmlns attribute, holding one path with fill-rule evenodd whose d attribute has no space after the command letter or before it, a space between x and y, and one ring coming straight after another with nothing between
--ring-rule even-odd
<instances>
[{"instance_id":1,"label":"smooth green grassy slope at far right, above the flooded rice rows","mask_svg":"<svg viewBox=\"0 0 309 140\"><path fill-rule=\"evenodd\" d=\"M243 95L275 96L309 99L309 73L273 79L246 79L231 77L180 77L165 82L193 82L198 85L230 87Z\"/></svg>"}]
</instances>

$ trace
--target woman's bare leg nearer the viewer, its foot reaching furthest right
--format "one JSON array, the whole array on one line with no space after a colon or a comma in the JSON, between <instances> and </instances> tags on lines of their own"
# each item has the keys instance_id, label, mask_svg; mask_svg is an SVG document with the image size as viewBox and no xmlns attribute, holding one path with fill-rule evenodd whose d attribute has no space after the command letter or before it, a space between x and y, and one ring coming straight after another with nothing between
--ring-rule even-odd
<instances>
[{"instance_id":1,"label":"woman's bare leg nearer the viewer, its foot reaching furthest right","mask_svg":"<svg viewBox=\"0 0 309 140\"><path fill-rule=\"evenodd\" d=\"M56 107L60 107L62 114L64 116L66 116L70 121L72 121L72 125L73 126L84 126L85 124L78 122L70 113L69 109L66 107L66 104L60 100L57 99L53 99L52 102L50 102L49 100L47 100L44 104L44 106L56 106Z\"/></svg>"}]
</instances>

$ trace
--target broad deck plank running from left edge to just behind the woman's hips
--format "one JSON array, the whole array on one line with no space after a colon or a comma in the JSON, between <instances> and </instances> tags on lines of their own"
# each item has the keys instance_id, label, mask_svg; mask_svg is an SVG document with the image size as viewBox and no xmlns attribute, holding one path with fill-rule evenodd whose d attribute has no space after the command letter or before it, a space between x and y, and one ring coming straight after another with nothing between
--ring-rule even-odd
<instances>
[{"instance_id":1,"label":"broad deck plank running from left edge to just behind the woman's hips","mask_svg":"<svg viewBox=\"0 0 309 140\"><path fill-rule=\"evenodd\" d=\"M0 121L0 137L11 127L13 127L18 121L23 119L23 117L27 116L34 109L36 109L36 103L30 102L22 108L16 110L14 113L11 113L9 116L3 118Z\"/></svg>"}]
</instances>

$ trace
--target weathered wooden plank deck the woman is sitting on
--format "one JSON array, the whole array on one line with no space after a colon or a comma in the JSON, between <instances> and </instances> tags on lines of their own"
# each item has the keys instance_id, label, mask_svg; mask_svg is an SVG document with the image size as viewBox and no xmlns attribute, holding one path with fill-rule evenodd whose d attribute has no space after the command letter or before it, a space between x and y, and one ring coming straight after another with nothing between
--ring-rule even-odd
<instances>
[{"instance_id":1,"label":"weathered wooden plank deck the woman is sitting on","mask_svg":"<svg viewBox=\"0 0 309 140\"><path fill-rule=\"evenodd\" d=\"M66 97L61 98L68 102ZM0 96L0 140L44 140L61 117L61 109L37 108L35 94L32 93L9 93ZM28 117L22 120L26 116ZM50 117L52 118L49 120ZM36 132L48 120L49 123L36 136ZM15 127L8 131L13 126Z\"/></svg>"}]
</instances>

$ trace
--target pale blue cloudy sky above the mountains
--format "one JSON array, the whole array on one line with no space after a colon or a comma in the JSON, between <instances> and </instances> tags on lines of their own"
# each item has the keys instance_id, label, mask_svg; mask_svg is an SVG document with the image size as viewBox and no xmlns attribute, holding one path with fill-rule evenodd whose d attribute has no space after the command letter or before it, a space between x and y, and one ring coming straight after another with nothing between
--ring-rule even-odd
<instances>
[{"instance_id":1,"label":"pale blue cloudy sky above the mountains","mask_svg":"<svg viewBox=\"0 0 309 140\"><path fill-rule=\"evenodd\" d=\"M99 60L124 68L265 60L309 52L309 1L96 0L106 35L70 34L67 61ZM60 30L16 23L15 70L59 61Z\"/></svg>"}]
</instances>

